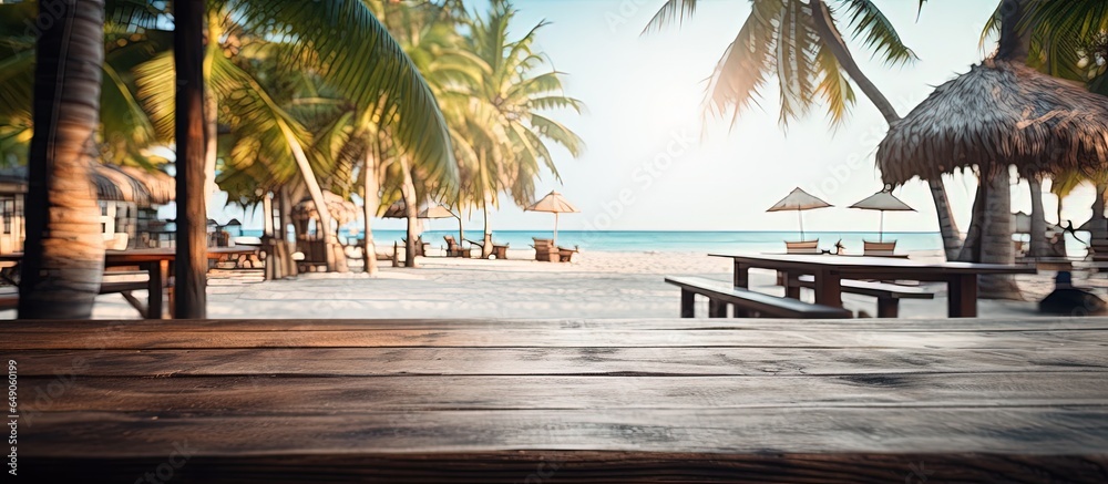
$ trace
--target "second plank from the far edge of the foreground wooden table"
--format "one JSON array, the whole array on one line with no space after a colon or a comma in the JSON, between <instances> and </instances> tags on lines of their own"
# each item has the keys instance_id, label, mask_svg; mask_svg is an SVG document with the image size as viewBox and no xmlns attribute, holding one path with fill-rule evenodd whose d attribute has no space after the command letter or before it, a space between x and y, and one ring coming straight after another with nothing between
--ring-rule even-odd
<instances>
[{"instance_id":1,"label":"second plank from the far edge of the foreground wooden table","mask_svg":"<svg viewBox=\"0 0 1108 484\"><path fill-rule=\"evenodd\" d=\"M619 331L499 329L349 330L349 331L69 331L21 332L3 343L4 350L70 349L202 349L202 348L935 348L1032 349L1081 348L1108 344L1108 331L1007 332L811 332L771 330Z\"/></svg>"}]
</instances>

